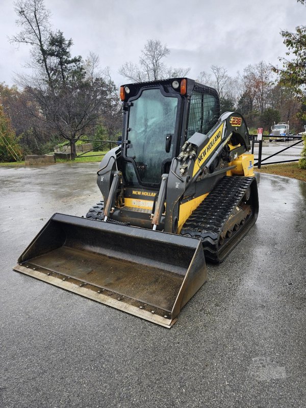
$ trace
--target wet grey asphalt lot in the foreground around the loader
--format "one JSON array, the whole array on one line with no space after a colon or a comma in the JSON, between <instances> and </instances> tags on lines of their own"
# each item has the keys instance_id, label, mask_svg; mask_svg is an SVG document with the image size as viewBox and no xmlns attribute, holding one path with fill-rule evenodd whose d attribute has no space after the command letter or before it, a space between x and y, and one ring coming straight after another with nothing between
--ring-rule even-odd
<instances>
[{"instance_id":1,"label":"wet grey asphalt lot in the foreground around the loader","mask_svg":"<svg viewBox=\"0 0 306 408\"><path fill-rule=\"evenodd\" d=\"M0 167L0 406L305 407L306 183L258 174L256 225L169 330L12 271L96 163Z\"/></svg>"}]
</instances>

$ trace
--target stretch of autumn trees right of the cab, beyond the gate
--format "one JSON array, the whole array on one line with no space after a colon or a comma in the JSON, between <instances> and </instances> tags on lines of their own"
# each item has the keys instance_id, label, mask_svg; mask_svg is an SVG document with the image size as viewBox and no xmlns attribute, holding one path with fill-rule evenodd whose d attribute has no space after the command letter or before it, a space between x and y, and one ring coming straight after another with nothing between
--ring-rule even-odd
<instances>
[{"instance_id":1,"label":"stretch of autumn trees right of the cab, beyond the gate","mask_svg":"<svg viewBox=\"0 0 306 408\"><path fill-rule=\"evenodd\" d=\"M270 133L274 122L290 122L292 132L303 130L303 101L297 90L284 83L275 68L265 61L247 65L236 77L226 68L212 66L201 72L200 82L214 87L220 95L221 112L242 113L249 129L263 127Z\"/></svg>"}]
</instances>

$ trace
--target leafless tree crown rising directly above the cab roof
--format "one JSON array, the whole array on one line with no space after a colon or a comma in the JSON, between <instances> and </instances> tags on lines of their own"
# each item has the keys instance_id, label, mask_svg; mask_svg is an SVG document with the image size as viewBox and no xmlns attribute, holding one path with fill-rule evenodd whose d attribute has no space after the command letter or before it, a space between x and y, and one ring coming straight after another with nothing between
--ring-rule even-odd
<instances>
[{"instance_id":1,"label":"leafless tree crown rising directly above the cab roof","mask_svg":"<svg viewBox=\"0 0 306 408\"><path fill-rule=\"evenodd\" d=\"M156 81L167 77L185 77L190 68L167 67L163 59L170 54L170 49L159 40L147 40L141 50L139 65L125 62L119 73L132 82Z\"/></svg>"}]
</instances>

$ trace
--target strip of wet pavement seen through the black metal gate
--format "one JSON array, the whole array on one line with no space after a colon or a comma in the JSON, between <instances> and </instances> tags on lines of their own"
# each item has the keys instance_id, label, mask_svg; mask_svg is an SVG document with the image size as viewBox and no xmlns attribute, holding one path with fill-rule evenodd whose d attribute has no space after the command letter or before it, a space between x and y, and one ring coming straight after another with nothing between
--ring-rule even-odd
<instances>
[{"instance_id":1,"label":"strip of wet pavement seen through the black metal gate","mask_svg":"<svg viewBox=\"0 0 306 408\"><path fill-rule=\"evenodd\" d=\"M299 143L296 144L297 142ZM259 145L258 143L256 143L254 145L255 162L258 161L258 147ZM278 153L280 150L283 150L286 147L289 148L281 153ZM299 141L297 139L285 142L269 142L268 140L264 140L262 147L262 165L264 166L265 164L272 162L274 163L288 160L298 160L301 157L302 148L303 141ZM275 156L271 157L270 159L267 159L271 155Z\"/></svg>"}]
</instances>

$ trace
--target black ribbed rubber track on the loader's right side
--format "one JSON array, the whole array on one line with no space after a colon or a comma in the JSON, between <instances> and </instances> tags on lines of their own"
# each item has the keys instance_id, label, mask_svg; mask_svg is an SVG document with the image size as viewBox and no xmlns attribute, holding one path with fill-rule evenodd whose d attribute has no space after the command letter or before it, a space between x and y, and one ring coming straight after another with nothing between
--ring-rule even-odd
<instances>
[{"instance_id":1,"label":"black ribbed rubber track on the loader's right side","mask_svg":"<svg viewBox=\"0 0 306 408\"><path fill-rule=\"evenodd\" d=\"M256 221L252 211L248 222L241 225L237 231L239 234L233 232L232 237L226 238L224 243L219 246L219 236L223 225L253 181L253 177L224 176L183 225L181 235L199 238L203 244L205 258L210 261L222 262L228 254L228 251L222 254L224 249L228 246L233 249L248 231L249 228L247 227L252 221L251 218L253 218L253 222ZM241 234L241 230L246 231ZM236 243L235 240L237 240Z\"/></svg>"}]
</instances>

